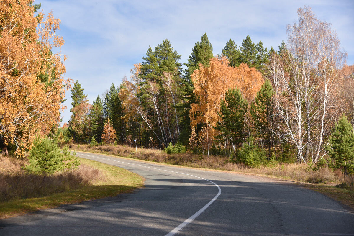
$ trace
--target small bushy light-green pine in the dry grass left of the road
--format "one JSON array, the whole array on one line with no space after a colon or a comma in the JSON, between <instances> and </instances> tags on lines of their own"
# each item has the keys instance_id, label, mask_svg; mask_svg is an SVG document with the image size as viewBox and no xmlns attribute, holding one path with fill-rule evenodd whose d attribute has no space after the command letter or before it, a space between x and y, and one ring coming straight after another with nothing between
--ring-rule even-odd
<instances>
[{"instance_id":1,"label":"small bushy light-green pine in the dry grass left of the road","mask_svg":"<svg viewBox=\"0 0 354 236\"><path fill-rule=\"evenodd\" d=\"M73 169L80 165L75 153L72 154L68 147L61 153L58 145L48 137L37 136L29 152L29 165L24 167L28 172L35 174L53 174L63 169Z\"/></svg>"}]
</instances>

